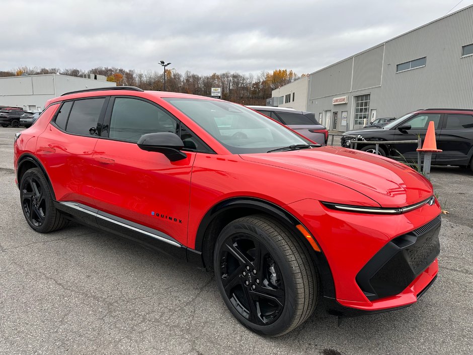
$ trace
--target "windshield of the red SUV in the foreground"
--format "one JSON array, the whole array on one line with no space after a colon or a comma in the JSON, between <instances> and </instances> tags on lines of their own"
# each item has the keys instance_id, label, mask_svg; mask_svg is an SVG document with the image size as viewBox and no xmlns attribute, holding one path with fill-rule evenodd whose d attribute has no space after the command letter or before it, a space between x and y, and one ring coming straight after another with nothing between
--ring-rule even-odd
<instances>
[{"instance_id":1,"label":"windshield of the red SUV in the foreground","mask_svg":"<svg viewBox=\"0 0 473 355\"><path fill-rule=\"evenodd\" d=\"M225 101L166 98L233 154L312 144L279 123L241 105Z\"/></svg>"}]
</instances>

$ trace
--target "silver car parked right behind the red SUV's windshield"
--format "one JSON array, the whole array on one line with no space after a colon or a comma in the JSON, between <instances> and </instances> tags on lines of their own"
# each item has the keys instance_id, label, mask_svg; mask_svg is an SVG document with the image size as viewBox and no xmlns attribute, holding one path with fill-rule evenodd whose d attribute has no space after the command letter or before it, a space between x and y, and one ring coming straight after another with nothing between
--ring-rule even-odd
<instances>
[{"instance_id":1,"label":"silver car parked right behind the red SUV's windshield","mask_svg":"<svg viewBox=\"0 0 473 355\"><path fill-rule=\"evenodd\" d=\"M319 123L313 112L297 111L292 108L271 107L271 106L247 106L259 113L262 113L276 121L285 124L289 128L302 134L304 137L326 145L329 139L329 131Z\"/></svg>"}]
</instances>

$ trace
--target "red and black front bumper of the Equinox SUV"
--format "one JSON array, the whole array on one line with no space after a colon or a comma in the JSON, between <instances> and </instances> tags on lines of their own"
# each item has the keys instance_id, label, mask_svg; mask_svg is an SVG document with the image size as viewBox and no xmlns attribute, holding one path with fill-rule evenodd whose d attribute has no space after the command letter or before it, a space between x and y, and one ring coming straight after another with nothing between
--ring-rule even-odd
<instances>
[{"instance_id":1,"label":"red and black front bumper of the Equinox SUV","mask_svg":"<svg viewBox=\"0 0 473 355\"><path fill-rule=\"evenodd\" d=\"M324 296L340 307L372 313L409 306L438 273L438 201L389 216L330 210L311 199L286 207L327 258L335 295Z\"/></svg>"}]
</instances>

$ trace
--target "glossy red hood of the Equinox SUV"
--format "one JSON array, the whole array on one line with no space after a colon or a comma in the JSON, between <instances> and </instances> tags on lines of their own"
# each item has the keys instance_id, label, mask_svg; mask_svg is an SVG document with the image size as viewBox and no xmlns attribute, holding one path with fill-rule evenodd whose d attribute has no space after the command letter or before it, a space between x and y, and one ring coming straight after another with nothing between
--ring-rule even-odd
<instances>
[{"instance_id":1,"label":"glossy red hood of the Equinox SUV","mask_svg":"<svg viewBox=\"0 0 473 355\"><path fill-rule=\"evenodd\" d=\"M364 194L381 207L404 207L423 201L433 194L432 184L407 165L341 147L245 154L241 157L246 161L333 181ZM301 188L307 189L307 195L310 194L311 186Z\"/></svg>"}]
</instances>

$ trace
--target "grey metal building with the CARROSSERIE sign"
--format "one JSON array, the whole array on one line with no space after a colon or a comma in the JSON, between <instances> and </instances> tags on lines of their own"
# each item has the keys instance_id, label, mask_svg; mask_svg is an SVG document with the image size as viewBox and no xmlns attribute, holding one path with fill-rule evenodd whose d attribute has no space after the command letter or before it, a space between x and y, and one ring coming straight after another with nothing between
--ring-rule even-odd
<instances>
[{"instance_id":1,"label":"grey metal building with the CARROSSERIE sign","mask_svg":"<svg viewBox=\"0 0 473 355\"><path fill-rule=\"evenodd\" d=\"M339 131L420 108L473 109L473 6L310 74L307 90L307 111Z\"/></svg>"}]
</instances>

